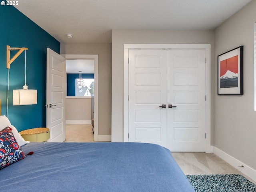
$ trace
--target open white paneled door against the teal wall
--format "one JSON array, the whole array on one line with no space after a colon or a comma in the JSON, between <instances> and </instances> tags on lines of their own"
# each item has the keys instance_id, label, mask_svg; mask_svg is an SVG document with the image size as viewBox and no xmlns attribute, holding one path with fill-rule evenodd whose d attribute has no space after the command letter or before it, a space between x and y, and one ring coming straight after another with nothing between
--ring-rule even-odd
<instances>
[{"instance_id":1,"label":"open white paneled door against the teal wall","mask_svg":"<svg viewBox=\"0 0 256 192\"><path fill-rule=\"evenodd\" d=\"M64 142L66 96L66 59L47 48L46 126L50 129L48 142Z\"/></svg>"}]
</instances>

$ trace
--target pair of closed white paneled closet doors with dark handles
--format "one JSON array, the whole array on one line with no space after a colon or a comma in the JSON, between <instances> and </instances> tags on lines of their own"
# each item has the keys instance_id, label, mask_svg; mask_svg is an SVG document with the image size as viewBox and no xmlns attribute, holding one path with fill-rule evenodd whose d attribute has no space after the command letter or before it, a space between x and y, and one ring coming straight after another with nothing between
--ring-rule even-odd
<instances>
[{"instance_id":1,"label":"pair of closed white paneled closet doors with dark handles","mask_svg":"<svg viewBox=\"0 0 256 192\"><path fill-rule=\"evenodd\" d=\"M129 50L129 142L205 152L205 78L205 50Z\"/></svg>"}]
</instances>

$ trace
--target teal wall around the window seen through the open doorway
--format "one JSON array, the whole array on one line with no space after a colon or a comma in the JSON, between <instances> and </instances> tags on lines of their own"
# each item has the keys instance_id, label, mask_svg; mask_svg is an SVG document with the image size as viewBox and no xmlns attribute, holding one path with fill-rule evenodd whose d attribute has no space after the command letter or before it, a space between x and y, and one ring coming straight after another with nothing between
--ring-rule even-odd
<instances>
[{"instance_id":1,"label":"teal wall around the window seen through the open doorway","mask_svg":"<svg viewBox=\"0 0 256 192\"><path fill-rule=\"evenodd\" d=\"M79 78L79 73L73 74L68 73L67 74L67 96L76 96L76 79ZM82 74L83 79L94 79L94 74L87 73Z\"/></svg>"}]
</instances>

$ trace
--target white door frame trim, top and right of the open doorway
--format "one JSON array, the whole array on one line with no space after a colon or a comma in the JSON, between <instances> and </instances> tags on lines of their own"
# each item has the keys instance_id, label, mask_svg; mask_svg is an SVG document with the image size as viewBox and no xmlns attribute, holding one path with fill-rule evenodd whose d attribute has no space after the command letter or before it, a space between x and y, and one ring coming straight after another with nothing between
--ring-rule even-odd
<instances>
[{"instance_id":1,"label":"white door frame trim, top and right of the open doorway","mask_svg":"<svg viewBox=\"0 0 256 192\"><path fill-rule=\"evenodd\" d=\"M65 54L66 60L94 61L94 141L98 141L98 55Z\"/></svg>"}]
</instances>

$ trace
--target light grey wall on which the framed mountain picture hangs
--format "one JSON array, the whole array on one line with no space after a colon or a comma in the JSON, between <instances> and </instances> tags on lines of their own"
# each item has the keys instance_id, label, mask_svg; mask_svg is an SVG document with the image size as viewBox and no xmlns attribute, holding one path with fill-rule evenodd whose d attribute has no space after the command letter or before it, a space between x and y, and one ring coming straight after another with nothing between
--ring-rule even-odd
<instances>
[{"instance_id":1,"label":"light grey wall on which the framed mountain picture hangs","mask_svg":"<svg viewBox=\"0 0 256 192\"><path fill-rule=\"evenodd\" d=\"M256 170L254 111L256 0L214 30L214 147ZM218 55L244 46L244 95L217 95ZM256 177L255 177L256 178Z\"/></svg>"}]
</instances>

